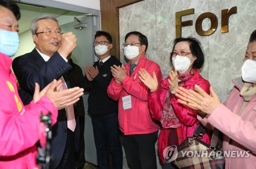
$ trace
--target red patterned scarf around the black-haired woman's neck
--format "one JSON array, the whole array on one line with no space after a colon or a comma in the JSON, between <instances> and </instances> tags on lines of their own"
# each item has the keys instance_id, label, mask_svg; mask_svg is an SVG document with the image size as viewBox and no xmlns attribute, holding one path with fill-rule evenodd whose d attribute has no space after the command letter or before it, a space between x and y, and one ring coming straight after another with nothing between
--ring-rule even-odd
<instances>
[{"instance_id":1,"label":"red patterned scarf around the black-haired woman's neck","mask_svg":"<svg viewBox=\"0 0 256 169\"><path fill-rule=\"evenodd\" d=\"M179 87L184 85L191 76L195 74L195 69L190 69L188 72L178 75ZM160 118L162 127L164 128L178 128L181 126L180 120L177 118L172 104L170 104L170 92L168 90L163 104L163 113Z\"/></svg>"}]
</instances>

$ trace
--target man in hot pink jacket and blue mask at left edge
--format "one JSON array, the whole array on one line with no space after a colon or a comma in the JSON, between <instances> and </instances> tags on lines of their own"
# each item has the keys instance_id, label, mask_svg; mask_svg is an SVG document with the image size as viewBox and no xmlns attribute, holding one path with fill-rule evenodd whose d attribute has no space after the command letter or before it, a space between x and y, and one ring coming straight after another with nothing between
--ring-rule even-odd
<instances>
[{"instance_id":1,"label":"man in hot pink jacket and blue mask at left edge","mask_svg":"<svg viewBox=\"0 0 256 169\"><path fill-rule=\"evenodd\" d=\"M38 168L36 142L45 139L40 128L40 112L51 112L56 123L57 109L79 100L83 89L58 91L61 81L54 80L39 92L36 83L33 101L24 106L19 98L15 76L11 72L12 57L18 49L19 8L9 0L0 0L0 168ZM41 132L40 132L41 131Z\"/></svg>"}]
</instances>

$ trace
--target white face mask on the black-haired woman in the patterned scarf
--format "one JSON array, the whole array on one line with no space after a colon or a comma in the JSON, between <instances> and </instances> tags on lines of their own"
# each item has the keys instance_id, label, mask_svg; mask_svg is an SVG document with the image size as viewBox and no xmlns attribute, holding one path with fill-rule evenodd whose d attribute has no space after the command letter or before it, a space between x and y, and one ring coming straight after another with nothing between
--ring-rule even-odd
<instances>
[{"instance_id":1,"label":"white face mask on the black-haired woman in the patterned scarf","mask_svg":"<svg viewBox=\"0 0 256 169\"><path fill-rule=\"evenodd\" d=\"M193 56L191 56L193 57ZM191 58L190 57L190 58ZM190 58L187 57L181 57L180 55L176 55L176 57L172 58L174 68L179 72L185 72L191 65Z\"/></svg>"}]
</instances>

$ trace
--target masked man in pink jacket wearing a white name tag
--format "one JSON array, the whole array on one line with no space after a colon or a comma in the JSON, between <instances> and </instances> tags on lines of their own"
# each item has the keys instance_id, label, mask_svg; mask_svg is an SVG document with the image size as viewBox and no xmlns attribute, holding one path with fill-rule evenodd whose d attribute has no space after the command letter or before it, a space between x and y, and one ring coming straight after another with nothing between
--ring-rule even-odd
<instances>
[{"instance_id":1,"label":"masked man in pink jacket wearing a white name tag","mask_svg":"<svg viewBox=\"0 0 256 169\"><path fill-rule=\"evenodd\" d=\"M129 167L155 169L158 124L148 109L148 88L140 81L138 72L140 68L151 75L156 72L159 84L162 73L158 64L146 59L147 45L145 35L139 32L126 34L123 46L129 64L111 68L114 78L108 87L108 95L119 100L119 128Z\"/></svg>"}]
</instances>

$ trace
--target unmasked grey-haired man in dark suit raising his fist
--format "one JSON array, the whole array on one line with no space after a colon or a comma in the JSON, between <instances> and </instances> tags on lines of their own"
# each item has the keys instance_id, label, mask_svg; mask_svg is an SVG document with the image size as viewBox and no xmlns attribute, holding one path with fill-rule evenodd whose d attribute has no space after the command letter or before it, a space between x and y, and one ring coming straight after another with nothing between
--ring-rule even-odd
<instances>
[{"instance_id":1,"label":"unmasked grey-haired man in dark suit raising his fist","mask_svg":"<svg viewBox=\"0 0 256 169\"><path fill-rule=\"evenodd\" d=\"M34 84L43 89L53 79L62 79L62 90L70 88L67 76L72 66L68 55L76 47L77 38L72 32L61 34L57 20L51 15L42 15L31 23L35 48L14 59L12 68L20 85L20 97L24 104L33 98ZM70 120L71 119L71 120ZM71 124L71 125L70 125ZM58 112L57 123L52 127L51 168L73 168L75 148L78 148L79 122L75 121L74 107Z\"/></svg>"}]
</instances>

